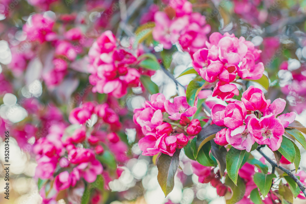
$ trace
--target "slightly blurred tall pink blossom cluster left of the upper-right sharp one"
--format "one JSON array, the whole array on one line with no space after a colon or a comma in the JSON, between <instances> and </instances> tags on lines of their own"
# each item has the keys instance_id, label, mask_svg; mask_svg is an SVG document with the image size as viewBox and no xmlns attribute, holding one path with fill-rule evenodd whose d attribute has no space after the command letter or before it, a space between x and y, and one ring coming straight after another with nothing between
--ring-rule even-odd
<instances>
[{"instance_id":1,"label":"slightly blurred tall pink blossom cluster left of the upper-right sharp one","mask_svg":"<svg viewBox=\"0 0 306 204\"><path fill-rule=\"evenodd\" d=\"M105 31L91 46L89 52L90 83L92 91L106 93L121 98L127 93L128 87L140 85L140 73L131 68L136 64L134 55L118 47L116 38L111 31Z\"/></svg>"}]
</instances>

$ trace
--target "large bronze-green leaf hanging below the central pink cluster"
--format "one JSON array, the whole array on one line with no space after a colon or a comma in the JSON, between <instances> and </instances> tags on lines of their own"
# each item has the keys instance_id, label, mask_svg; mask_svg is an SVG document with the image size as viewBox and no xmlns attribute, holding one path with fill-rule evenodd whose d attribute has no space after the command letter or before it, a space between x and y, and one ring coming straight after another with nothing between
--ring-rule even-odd
<instances>
[{"instance_id":1,"label":"large bronze-green leaf hanging below the central pink cluster","mask_svg":"<svg viewBox=\"0 0 306 204\"><path fill-rule=\"evenodd\" d=\"M161 154L157 160L157 180L165 196L173 190L174 176L180 163L179 155L180 150L176 150L172 157Z\"/></svg>"}]
</instances>

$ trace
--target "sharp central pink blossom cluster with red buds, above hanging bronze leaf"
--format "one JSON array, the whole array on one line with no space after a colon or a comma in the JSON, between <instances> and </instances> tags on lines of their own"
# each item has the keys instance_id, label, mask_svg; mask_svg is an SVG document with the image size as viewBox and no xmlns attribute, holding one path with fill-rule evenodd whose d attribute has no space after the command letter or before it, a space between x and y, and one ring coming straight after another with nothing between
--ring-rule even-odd
<instances>
[{"instance_id":1,"label":"sharp central pink blossom cluster with red buds, above hanging bronze leaf","mask_svg":"<svg viewBox=\"0 0 306 204\"><path fill-rule=\"evenodd\" d=\"M185 96L174 97L172 103L162 94L151 95L150 101L143 103L143 108L135 109L133 116L133 121L141 127L144 134L138 142L142 154L153 156L162 152L172 156L177 148L185 147L190 137L202 130L198 119L190 121L187 118L195 112L196 106L190 107ZM163 118L164 113L169 114L167 119ZM182 127L172 127L170 123L164 122L169 119L180 120L178 125ZM176 132L180 134L174 134Z\"/></svg>"}]
</instances>

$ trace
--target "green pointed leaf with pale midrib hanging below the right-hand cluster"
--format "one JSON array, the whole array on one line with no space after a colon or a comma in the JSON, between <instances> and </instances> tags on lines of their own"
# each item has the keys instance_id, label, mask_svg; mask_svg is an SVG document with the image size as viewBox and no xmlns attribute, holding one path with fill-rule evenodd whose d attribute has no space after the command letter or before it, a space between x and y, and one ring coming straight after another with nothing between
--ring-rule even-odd
<instances>
[{"instance_id":1,"label":"green pointed leaf with pale midrib hanging below the right-hand cluster","mask_svg":"<svg viewBox=\"0 0 306 204\"><path fill-rule=\"evenodd\" d=\"M237 150L231 147L226 154L226 170L230 179L237 185L238 170L242 163L245 150Z\"/></svg>"}]
</instances>

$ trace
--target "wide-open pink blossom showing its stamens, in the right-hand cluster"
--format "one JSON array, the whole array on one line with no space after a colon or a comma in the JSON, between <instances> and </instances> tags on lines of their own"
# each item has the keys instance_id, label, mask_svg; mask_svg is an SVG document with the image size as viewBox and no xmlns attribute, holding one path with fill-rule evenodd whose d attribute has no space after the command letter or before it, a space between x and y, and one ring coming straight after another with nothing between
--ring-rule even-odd
<instances>
[{"instance_id":1,"label":"wide-open pink blossom showing its stamens, in the right-hand cluster","mask_svg":"<svg viewBox=\"0 0 306 204\"><path fill-rule=\"evenodd\" d=\"M267 144L272 151L278 150L282 143L284 126L273 114L257 118L251 118L248 122L248 130L254 135L258 144Z\"/></svg>"}]
</instances>

